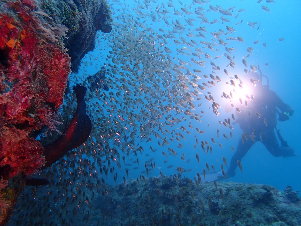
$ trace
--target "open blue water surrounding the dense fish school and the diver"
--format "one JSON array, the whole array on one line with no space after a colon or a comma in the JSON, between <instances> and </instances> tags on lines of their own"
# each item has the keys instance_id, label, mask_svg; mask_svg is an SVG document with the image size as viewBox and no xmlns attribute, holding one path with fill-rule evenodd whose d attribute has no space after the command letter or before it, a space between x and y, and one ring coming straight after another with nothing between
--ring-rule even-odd
<instances>
[{"instance_id":1,"label":"open blue water surrounding the dense fish school and the diver","mask_svg":"<svg viewBox=\"0 0 301 226\"><path fill-rule=\"evenodd\" d=\"M204 55L201 55L202 59L198 60L207 61L205 67L200 67L193 63L192 67L189 66L190 71L192 71L193 69L199 69L203 71L203 74L207 74L208 76L212 71L212 65L209 64L210 61L213 61L216 65L221 67L221 71L216 72L221 77L222 81L218 84L216 83L215 87L202 91L204 94L206 94L207 91L210 91L213 94L213 96L216 99L216 102L218 102L221 105L221 109L219 109L220 115L216 116L215 114L213 114L212 109L208 109L208 107L211 104L205 98L203 98L203 96L200 95L202 99L194 101L194 105L196 106L194 112L199 113L200 111L205 111L206 114L203 115L203 118L201 118L201 123L196 120L190 119L189 116L186 116L187 121L182 120L181 123L173 126L172 128L165 126L165 128L167 128L169 131L175 129L177 130L176 132L181 132L185 136L186 140L181 139L181 142L178 142L176 140L174 142L171 142L169 140L169 137L171 136L167 134L168 141L170 144L168 146L160 147L157 144L157 142L159 141L160 143L162 143L162 140L157 140L154 136L151 137L152 141L148 143L146 143L147 139L142 141L139 141L137 139L136 145L139 144L144 148L144 152L142 152L142 154L138 152L137 155L140 164L138 165L137 163L131 163L136 162L136 157L134 154L131 154L129 158L126 157L126 163L131 163L131 166L124 165L123 161L120 160L120 162L122 163L122 169L119 171L119 169L115 167L117 168L116 172L118 172L118 178L116 183L120 183L123 181L122 178L123 175L126 176L125 169L127 168L129 169L129 178L139 177L141 171L145 170L144 162L146 162L151 157L155 158L152 162L156 162L156 168L154 169L154 171L150 171L150 174L148 176L160 175L159 171L162 171L163 174L166 175L177 174L178 171L176 171L175 169L177 166L180 166L185 169L191 169L191 172L185 172L183 173L183 176L193 179L196 176L197 172L202 173L203 169L206 169L206 162L209 164L209 166L213 164L215 166L216 171L220 171L220 164L223 163L222 156L225 156L228 164L230 163L231 156L233 155L233 152L231 151L231 146L234 146L234 148L236 149L237 142L239 137L241 136L242 131L240 130L238 125L234 125L234 129L231 130L231 132L233 133L233 139L231 139L229 135L230 130L228 128L225 128L224 126L221 126L218 123L218 121L224 121L224 118L231 118L231 113L234 112L232 111L230 113L226 113L224 111L226 102L223 99L219 98L219 96L225 89L227 89L227 87L229 87L225 85L225 82L229 81L229 79L223 72L223 69L226 68L229 74L232 74L232 76L234 74L237 74L241 77L244 76L244 65L242 64L241 59L242 57L248 54L248 52L246 51L247 47L254 48L253 54L250 55L250 57L246 58L248 63L247 69L250 69L251 64L255 66L259 65L262 70L262 74L268 76L269 78L270 89L274 90L281 97L281 99L284 100L284 102L289 104L294 109L294 114L290 118L290 120L285 122L278 122L277 127L278 129L280 129L282 136L288 142L289 146L295 150L297 155L301 155L299 144L300 138L298 131L298 129L301 128L301 123L299 120L299 98L301 96L301 92L299 89L299 84L301 83L301 71L299 69L299 59L301 58L301 47L299 44L301 31L299 29L299 21L301 19L301 2L295 0L290 1L288 3L287 1L278 0L275 1L275 3L266 3L265 1L257 3L255 0L232 0L210 1L209 4L195 4L192 6L192 1L182 1L183 5L181 5L178 1L172 2L175 8L181 13L182 11L180 8L182 7L186 7L188 11L193 12L194 10L190 9L190 6L192 8L201 6L206 10L208 9L209 5L219 5L224 9L228 9L230 7L235 6L235 8L233 9L233 16L224 15L224 17L231 20L231 22L225 22L224 24L221 23L220 19L222 14L216 13L214 11L206 12L205 10L206 17L209 20L209 22L213 21L213 19L219 20L219 23L216 24L200 24L200 19L197 19L197 15L195 14L183 14L181 17L178 15L173 15L173 8L166 6L169 2L171 1L156 1L156 3L154 3L154 1L151 1L149 3L149 8L147 9L143 4L143 1L140 1L141 4L138 4L135 1L109 1L111 11L113 12L113 30L109 34L103 34L101 32L98 33L96 41L97 46L95 47L95 50L93 52L88 53L87 56L84 59L82 59L82 65L79 74L72 74L70 76L70 80L75 80L75 77L77 77L78 81L83 81L88 75L93 75L94 73L96 73L102 65L112 64L110 59L107 58L107 55L110 55L108 51L112 50L111 46L114 46L115 43L119 43L119 41L116 39L123 40L123 36L127 35L126 31L119 30L120 27L116 26L116 24L118 23L123 23L123 21L120 20L122 16L128 14L131 15L132 20L129 19L130 17L126 17L125 19L127 23L132 21L131 24L126 24L126 26L128 26L129 28L135 25L135 22L133 22L135 20L138 21L138 23L144 23L144 28L151 28L152 31L145 31L146 35L149 35L151 32L153 32L153 35L154 33L163 35L164 33L161 32L159 28L163 29L164 31L172 30L172 26L168 26L162 19L158 19L157 15L156 23L154 23L148 16L149 14L151 14L150 9L152 9L154 12L157 6L159 7L159 10L162 9L162 3L165 5L165 8L167 8L170 12L165 14L170 25L172 25L172 21L175 20L179 20L182 25L187 24L187 22L185 21L185 19L187 18L194 18L197 20L192 22L194 26L185 26L185 31L182 34L179 35L175 33L174 35L177 38L179 36L182 36L185 37L186 40L188 40L189 38L185 36L189 31L188 29L192 31L196 27L205 26L207 31L207 33L204 33L206 39L200 37L193 37L191 39L195 40L197 43L199 43L200 40L211 42L211 38L213 38L213 36L211 36L209 33L212 31L218 31L219 29L222 29L225 32L227 32L226 26L228 25L233 27L236 30L236 32L228 34L227 37L240 36L243 38L244 42L242 43L237 41L227 41L229 42L229 44L227 45L228 48L235 48L235 51L232 51L231 54L232 57L235 56L234 61L236 64L234 68L226 67L229 61L224 56L218 59L213 58L217 55L223 55L226 52L223 46L213 46L215 49L218 48L220 53L212 51L208 48L203 49L204 54L207 52L209 55L212 55L213 58L206 59ZM137 5L140 5L141 7L137 7ZM267 6L271 12L262 10L262 5ZM245 11L240 12L239 16L235 19L234 17L238 14L237 10L241 8L245 9ZM141 11L142 14L137 15L136 9L139 9L139 11ZM137 17L139 17L140 19L138 19ZM240 20L243 20L243 22L241 24L235 25ZM257 22L254 28L247 24L247 22L249 21ZM259 23L260 27L259 29L257 29ZM139 29L141 30L141 28ZM197 32L193 33L196 34ZM279 41L280 38L283 38L284 40ZM222 39L225 41L225 36L222 36ZM175 55L177 59L179 58L185 62L190 61L191 57L193 56L183 56L181 54L177 56L176 49L185 46L185 44L175 45L173 40L174 39L167 39L166 41L168 42L168 45L164 44L164 47L168 47L169 49L171 49L172 53L169 54L171 56ZM253 42L256 40L258 40L259 42L257 44L253 44ZM266 47L263 46L263 43L266 43ZM203 45L200 44L198 48L202 49ZM197 57L194 58L197 59ZM268 63L267 66L265 66L266 63ZM121 78L121 76L118 74L115 76ZM107 75L107 77L110 77L110 75ZM204 81L206 80L203 80L203 82ZM132 87L132 89L134 89L134 87ZM108 92L110 91L116 92L116 90L114 89L110 89ZM193 89L188 91L193 91ZM202 103L202 105L200 107L197 107L197 105L200 103ZM89 105L90 103L88 102L87 104ZM166 115L164 115L164 117ZM94 117L97 118L97 116ZM189 121L192 121L192 125L194 127L193 130L190 130L188 127ZM182 132L182 130L177 129L181 126L185 126L187 130L191 132L191 134L187 134L185 131ZM197 133L195 130L196 127L198 127L200 130L204 130L206 133ZM216 136L217 129L219 129L219 138L217 138ZM156 130L158 130L158 128L156 128ZM125 131L125 133L127 133L127 131ZM227 134L228 140L226 140L223 137L223 133ZM200 144L197 146L197 149L194 149L193 145L196 144L194 137L195 135L198 138L199 142L201 140L207 140L210 143L210 145L213 147L213 151L211 154L204 154L203 150L200 147ZM212 144L212 142L210 142L211 137L214 137L214 139L216 140L216 144ZM179 143L183 145L182 148L178 147ZM220 148L218 143L221 143L223 148ZM154 149L157 149L157 151L154 153L151 152L150 146L152 146ZM177 156L167 155L168 157L166 158L162 154L162 151L166 152L167 154L168 148L174 149L177 152ZM182 160L180 158L180 156L182 156L183 153L185 154L185 160ZM198 153L198 155L200 156L200 163L198 163L196 160L196 153ZM149 156L146 156L147 154ZM187 162L188 159L190 159L189 162ZM167 163L164 163L164 160L167 160ZM275 158L265 149L265 147L261 143L256 143L250 149L247 155L242 159L241 162L243 172L241 173L237 168L235 177L228 179L228 181L231 180L235 182L244 183L269 184L275 186L279 190L284 190L284 188L287 185L290 185L293 187L294 190L301 190L301 182L299 180L299 178L301 177L301 168L299 164L300 157ZM173 167L167 168L168 165L173 165ZM225 164L223 165L224 168L227 168ZM134 170L132 169L133 167L139 168ZM148 168L150 169L150 167ZM212 170L211 167L210 170ZM143 175L146 176L145 173ZM114 184L113 177L108 177L106 181Z\"/></svg>"}]
</instances>

